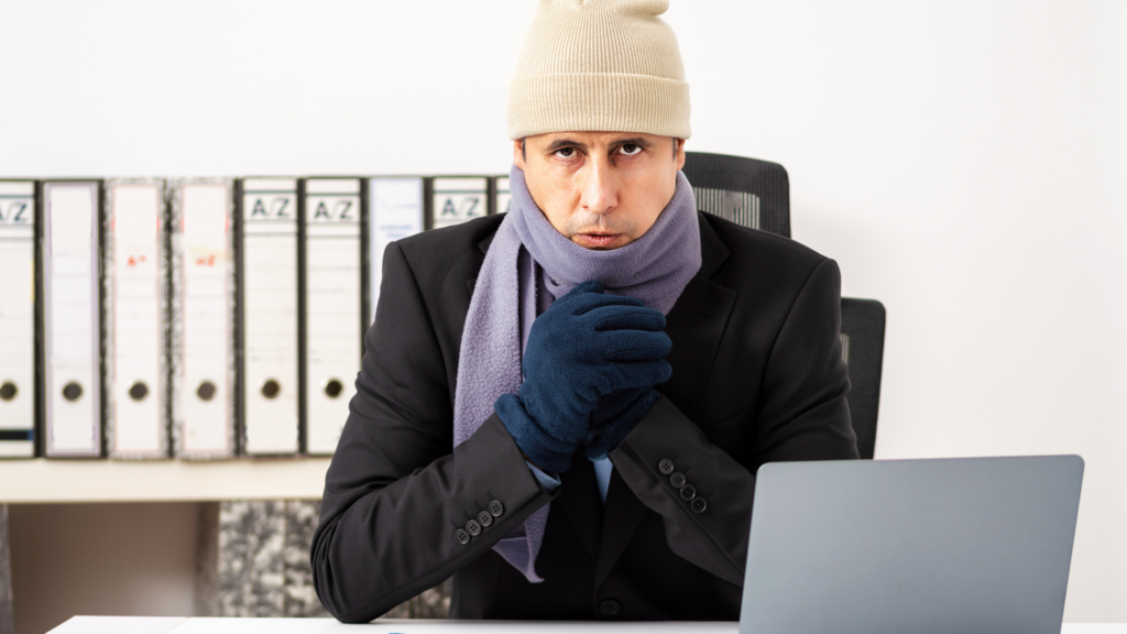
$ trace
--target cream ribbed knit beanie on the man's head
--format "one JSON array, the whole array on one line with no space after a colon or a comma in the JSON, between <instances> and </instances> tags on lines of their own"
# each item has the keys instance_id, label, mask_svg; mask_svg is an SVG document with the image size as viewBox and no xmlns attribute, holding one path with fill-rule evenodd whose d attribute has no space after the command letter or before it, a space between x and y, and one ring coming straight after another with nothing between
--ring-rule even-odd
<instances>
[{"instance_id":1,"label":"cream ribbed knit beanie on the man's head","mask_svg":"<svg viewBox=\"0 0 1127 634\"><path fill-rule=\"evenodd\" d=\"M508 137L687 139L689 85L668 0L539 0L508 83Z\"/></svg>"}]
</instances>

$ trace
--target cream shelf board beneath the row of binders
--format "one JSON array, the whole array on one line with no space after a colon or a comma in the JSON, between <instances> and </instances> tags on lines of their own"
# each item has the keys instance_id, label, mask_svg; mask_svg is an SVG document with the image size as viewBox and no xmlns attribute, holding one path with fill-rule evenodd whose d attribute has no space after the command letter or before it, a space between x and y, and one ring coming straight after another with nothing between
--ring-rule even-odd
<instances>
[{"instance_id":1,"label":"cream shelf board beneath the row of binders","mask_svg":"<svg viewBox=\"0 0 1127 634\"><path fill-rule=\"evenodd\" d=\"M0 504L312 500L330 458L221 461L3 460Z\"/></svg>"}]
</instances>

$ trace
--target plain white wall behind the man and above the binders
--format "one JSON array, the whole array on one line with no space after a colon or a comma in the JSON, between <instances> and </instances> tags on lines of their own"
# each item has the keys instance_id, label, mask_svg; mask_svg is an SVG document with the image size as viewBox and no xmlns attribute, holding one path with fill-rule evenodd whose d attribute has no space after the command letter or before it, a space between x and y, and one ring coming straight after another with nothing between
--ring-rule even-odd
<instances>
[{"instance_id":1,"label":"plain white wall behind the man and above the binders","mask_svg":"<svg viewBox=\"0 0 1127 634\"><path fill-rule=\"evenodd\" d=\"M0 173L496 173L531 0L0 2ZM690 149L888 308L878 457L1081 454L1127 622L1127 3L674 0Z\"/></svg>"}]
</instances>

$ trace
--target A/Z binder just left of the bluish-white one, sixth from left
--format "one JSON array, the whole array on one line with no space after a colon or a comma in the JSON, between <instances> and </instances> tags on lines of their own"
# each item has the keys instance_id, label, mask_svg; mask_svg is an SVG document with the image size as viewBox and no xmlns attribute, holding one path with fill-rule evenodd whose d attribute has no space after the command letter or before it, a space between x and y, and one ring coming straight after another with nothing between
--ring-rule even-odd
<instances>
[{"instance_id":1,"label":"A/Z binder just left of the bluish-white one, sixth from left","mask_svg":"<svg viewBox=\"0 0 1127 634\"><path fill-rule=\"evenodd\" d=\"M361 340L361 180L304 180L305 452L329 455L356 393Z\"/></svg>"}]
</instances>

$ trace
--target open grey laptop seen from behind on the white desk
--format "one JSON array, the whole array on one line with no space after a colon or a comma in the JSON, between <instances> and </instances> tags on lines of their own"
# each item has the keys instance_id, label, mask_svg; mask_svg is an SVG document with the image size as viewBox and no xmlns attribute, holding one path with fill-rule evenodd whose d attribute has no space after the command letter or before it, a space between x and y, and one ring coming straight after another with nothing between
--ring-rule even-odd
<instances>
[{"instance_id":1,"label":"open grey laptop seen from behind on the white desk","mask_svg":"<svg viewBox=\"0 0 1127 634\"><path fill-rule=\"evenodd\" d=\"M740 634L1059 634L1080 456L772 463Z\"/></svg>"}]
</instances>

